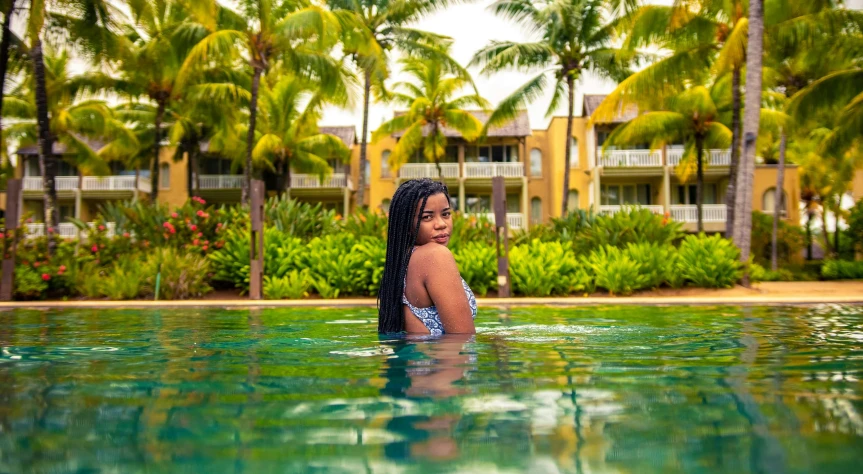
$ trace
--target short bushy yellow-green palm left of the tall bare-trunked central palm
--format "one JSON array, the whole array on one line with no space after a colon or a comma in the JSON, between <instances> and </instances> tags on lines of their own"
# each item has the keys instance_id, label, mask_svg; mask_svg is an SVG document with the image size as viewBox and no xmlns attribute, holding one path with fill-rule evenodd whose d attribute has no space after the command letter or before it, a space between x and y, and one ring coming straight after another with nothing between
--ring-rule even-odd
<instances>
[{"instance_id":1,"label":"short bushy yellow-green palm left of the tall bare-trunked central palm","mask_svg":"<svg viewBox=\"0 0 863 474\"><path fill-rule=\"evenodd\" d=\"M288 193L291 171L323 179L333 171L328 160L350 160L351 151L340 138L318 129L321 106L327 102L338 102L338 98L325 97L313 84L290 74L281 75L272 88L266 84L262 88L252 158L283 176Z\"/></svg>"}]
</instances>

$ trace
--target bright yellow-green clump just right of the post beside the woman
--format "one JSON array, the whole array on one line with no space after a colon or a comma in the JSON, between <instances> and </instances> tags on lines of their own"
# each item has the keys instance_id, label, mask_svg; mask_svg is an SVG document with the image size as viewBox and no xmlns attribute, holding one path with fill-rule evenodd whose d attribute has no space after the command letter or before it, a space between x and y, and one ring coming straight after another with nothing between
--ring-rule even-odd
<instances>
[{"instance_id":1,"label":"bright yellow-green clump just right of the post beside the woman","mask_svg":"<svg viewBox=\"0 0 863 474\"><path fill-rule=\"evenodd\" d=\"M509 252L512 290L525 296L569 295L592 290L575 254L560 242L533 240Z\"/></svg>"}]
</instances>

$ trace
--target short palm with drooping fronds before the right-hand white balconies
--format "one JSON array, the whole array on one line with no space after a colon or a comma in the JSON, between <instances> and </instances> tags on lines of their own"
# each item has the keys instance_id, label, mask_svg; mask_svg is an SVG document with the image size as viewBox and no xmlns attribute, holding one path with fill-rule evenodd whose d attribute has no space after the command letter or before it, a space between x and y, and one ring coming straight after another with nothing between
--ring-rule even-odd
<instances>
[{"instance_id":1,"label":"short palm with drooping fronds before the right-hand white balconies","mask_svg":"<svg viewBox=\"0 0 863 474\"><path fill-rule=\"evenodd\" d=\"M731 144L732 131L719 121L717 103L723 99L724 92L721 87L706 86L684 90L667 99L664 108L641 114L615 128L603 145L650 143L654 148L683 143L685 151L678 173L685 181L695 165L698 232L703 230L704 150L726 148Z\"/></svg>"}]
</instances>

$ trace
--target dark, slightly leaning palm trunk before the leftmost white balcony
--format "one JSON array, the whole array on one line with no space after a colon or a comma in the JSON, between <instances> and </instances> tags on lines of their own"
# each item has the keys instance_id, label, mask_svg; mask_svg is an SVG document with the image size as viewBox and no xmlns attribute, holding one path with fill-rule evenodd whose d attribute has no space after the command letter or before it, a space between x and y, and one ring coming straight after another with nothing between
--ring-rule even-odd
<instances>
[{"instance_id":1,"label":"dark, slightly leaning palm trunk before the leftmost white balcony","mask_svg":"<svg viewBox=\"0 0 863 474\"><path fill-rule=\"evenodd\" d=\"M48 119L48 90L45 86L45 63L42 57L42 40L33 40L30 49L33 60L33 76L36 80L36 122L39 127L39 170L42 172L42 188L45 192L45 230L48 236L48 255L54 254L57 239L54 230L59 225L57 215L57 157L53 153L54 137L51 135L51 122Z\"/></svg>"}]
</instances>

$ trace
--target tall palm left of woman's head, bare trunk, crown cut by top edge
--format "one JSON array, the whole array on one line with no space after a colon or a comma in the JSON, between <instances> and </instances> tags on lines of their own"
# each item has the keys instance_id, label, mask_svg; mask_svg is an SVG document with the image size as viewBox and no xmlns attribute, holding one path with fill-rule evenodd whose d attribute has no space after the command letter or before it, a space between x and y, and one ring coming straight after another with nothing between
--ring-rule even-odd
<instances>
[{"instance_id":1,"label":"tall palm left of woman's head, bare trunk, crown cut by top edge","mask_svg":"<svg viewBox=\"0 0 863 474\"><path fill-rule=\"evenodd\" d=\"M435 47L447 39L410 28L422 16L452 3L450 0L327 0L345 25L343 50L363 75L363 130L360 139L360 170L368 160L369 102L373 88L385 98L384 81L389 77L390 55L398 48L407 54L434 57ZM360 173L356 206L364 202L365 174Z\"/></svg>"}]
</instances>

